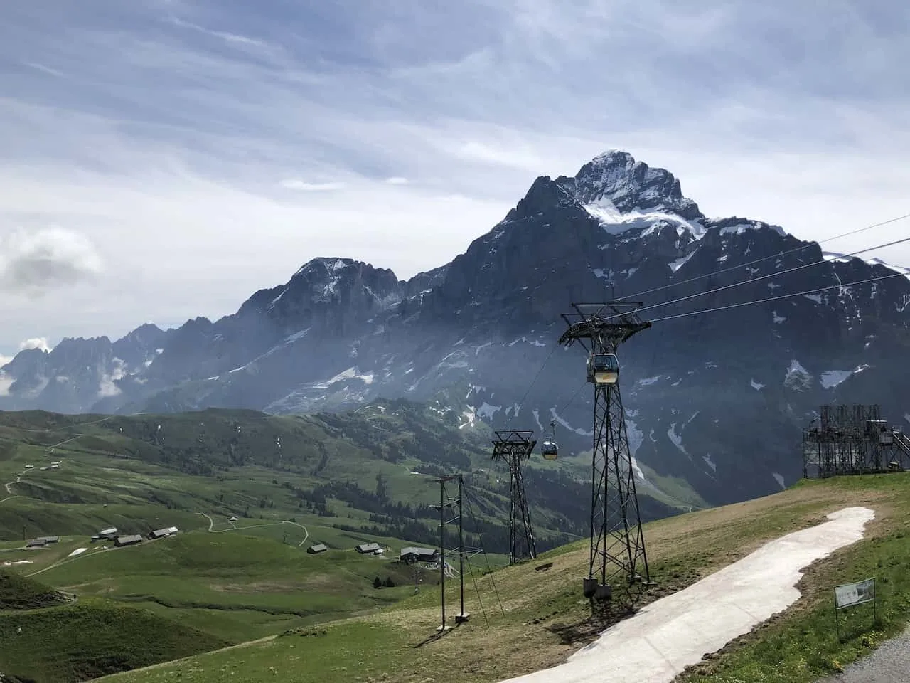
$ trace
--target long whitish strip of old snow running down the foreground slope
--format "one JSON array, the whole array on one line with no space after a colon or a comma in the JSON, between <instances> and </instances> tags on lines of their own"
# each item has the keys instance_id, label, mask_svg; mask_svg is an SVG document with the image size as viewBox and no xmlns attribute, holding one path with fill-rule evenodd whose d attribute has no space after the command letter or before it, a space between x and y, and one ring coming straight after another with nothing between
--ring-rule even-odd
<instances>
[{"instance_id":1,"label":"long whitish strip of old snow running down the foreground slope","mask_svg":"<svg viewBox=\"0 0 910 683\"><path fill-rule=\"evenodd\" d=\"M766 543L692 586L642 607L564 664L508 681L670 683L706 653L793 605L800 597L796 585L802 570L863 538L875 513L848 507L827 518L824 524Z\"/></svg>"}]
</instances>

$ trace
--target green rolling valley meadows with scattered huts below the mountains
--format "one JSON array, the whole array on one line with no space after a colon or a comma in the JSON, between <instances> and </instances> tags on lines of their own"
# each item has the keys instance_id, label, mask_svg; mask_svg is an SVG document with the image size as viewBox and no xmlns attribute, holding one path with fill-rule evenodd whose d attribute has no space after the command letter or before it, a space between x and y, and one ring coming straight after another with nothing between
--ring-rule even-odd
<instances>
[{"instance_id":1,"label":"green rolling valley meadows with scattered huts below the mountains","mask_svg":"<svg viewBox=\"0 0 910 683\"><path fill-rule=\"evenodd\" d=\"M490 463L486 427L466 419L402 401L291 417L0 413L0 567L76 594L76 607L134 607L130 618L153 631L179 624L209 645L364 615L439 580L353 548L375 541L397 557L405 545L438 545L440 474L465 474L466 543L488 551L484 566L505 562L508 472ZM527 468L539 549L585 533L582 460L536 457ZM678 512L652 498L642 507ZM90 541L109 526L181 533L125 548ZM60 541L25 549L44 535ZM308 555L314 543L329 552Z\"/></svg>"}]
</instances>

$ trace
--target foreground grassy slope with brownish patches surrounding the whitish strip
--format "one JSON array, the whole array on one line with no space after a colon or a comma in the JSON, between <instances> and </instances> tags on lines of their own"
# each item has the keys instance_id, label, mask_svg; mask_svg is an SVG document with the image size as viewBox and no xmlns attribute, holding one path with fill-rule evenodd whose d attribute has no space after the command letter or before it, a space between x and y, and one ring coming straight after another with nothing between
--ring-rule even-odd
<instances>
[{"instance_id":1,"label":"foreground grassy slope with brownish patches surrounding the whitish strip","mask_svg":"<svg viewBox=\"0 0 910 683\"><path fill-rule=\"evenodd\" d=\"M739 638L722 654L682 675L684 681L814 681L862 656L910 617L910 475L803 482L781 494L646 526L659 597L747 555L765 541L816 525L849 505L875 510L864 540L806 571L803 597L781 615ZM544 568L548 563L551 566ZM587 547L551 551L538 562L503 568L468 582L470 622L438 637L439 591L425 590L363 617L288 632L281 637L187 658L110 678L157 683L191 676L197 683L244 680L310 681L432 679L436 683L496 681L561 662L602 630L581 596ZM878 617L862 607L842 614L844 640L834 632L832 586L875 576ZM448 593L457 611L457 587ZM482 607L481 607L482 606Z\"/></svg>"}]
</instances>

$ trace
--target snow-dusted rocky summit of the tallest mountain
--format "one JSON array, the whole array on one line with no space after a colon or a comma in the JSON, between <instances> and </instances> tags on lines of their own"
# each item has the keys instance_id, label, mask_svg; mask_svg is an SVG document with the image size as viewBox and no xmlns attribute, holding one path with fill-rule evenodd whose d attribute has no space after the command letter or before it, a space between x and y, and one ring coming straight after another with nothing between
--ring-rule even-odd
<instances>
[{"instance_id":1,"label":"snow-dusted rocky summit of the tallest mountain","mask_svg":"<svg viewBox=\"0 0 910 683\"><path fill-rule=\"evenodd\" d=\"M609 149L581 167L574 178L556 181L585 207L619 213L660 211L686 220L703 219L692 200L682 196L680 181L666 168L651 168L622 149Z\"/></svg>"}]
</instances>

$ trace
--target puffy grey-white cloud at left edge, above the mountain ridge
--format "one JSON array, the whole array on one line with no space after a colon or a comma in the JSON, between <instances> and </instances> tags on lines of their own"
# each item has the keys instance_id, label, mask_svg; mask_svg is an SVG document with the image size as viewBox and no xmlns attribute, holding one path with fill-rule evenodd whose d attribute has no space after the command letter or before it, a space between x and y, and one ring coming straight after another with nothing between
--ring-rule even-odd
<instances>
[{"instance_id":1,"label":"puffy grey-white cloud at left edge, above the mountain ridge","mask_svg":"<svg viewBox=\"0 0 910 683\"><path fill-rule=\"evenodd\" d=\"M0 235L0 289L40 296L88 280L101 270L85 235L61 228Z\"/></svg>"}]
</instances>

